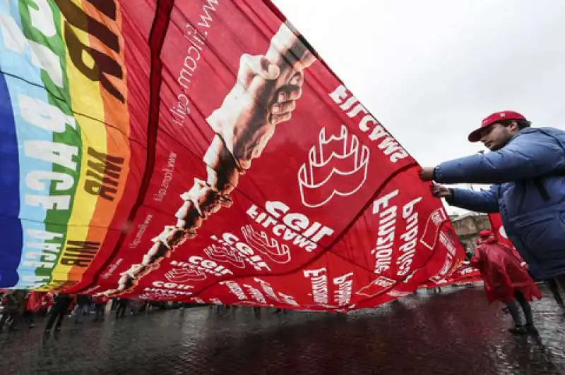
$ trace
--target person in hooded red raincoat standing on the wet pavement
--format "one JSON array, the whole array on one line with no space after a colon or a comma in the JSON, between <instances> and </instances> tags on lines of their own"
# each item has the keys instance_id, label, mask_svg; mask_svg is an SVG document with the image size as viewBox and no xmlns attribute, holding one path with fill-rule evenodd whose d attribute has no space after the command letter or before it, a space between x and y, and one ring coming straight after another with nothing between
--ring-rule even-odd
<instances>
[{"instance_id":1,"label":"person in hooded red raincoat standing on the wet pavement","mask_svg":"<svg viewBox=\"0 0 565 375\"><path fill-rule=\"evenodd\" d=\"M510 247L500 244L491 230L482 230L479 235L481 244L475 248L470 263L481 273L489 302L499 300L508 307L514 321L513 328L509 328L511 333L536 333L528 301L533 297L540 300L540 289L521 264L523 260L518 259ZM525 324L518 304L524 312Z\"/></svg>"}]
</instances>

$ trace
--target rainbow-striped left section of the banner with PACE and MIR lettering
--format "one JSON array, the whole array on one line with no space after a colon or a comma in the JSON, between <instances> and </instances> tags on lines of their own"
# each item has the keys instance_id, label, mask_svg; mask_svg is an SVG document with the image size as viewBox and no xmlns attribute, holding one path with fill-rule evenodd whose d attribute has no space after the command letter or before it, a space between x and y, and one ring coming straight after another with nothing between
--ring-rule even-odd
<instances>
[{"instance_id":1,"label":"rainbow-striped left section of the banner with PACE and MIR lettering","mask_svg":"<svg viewBox=\"0 0 565 375\"><path fill-rule=\"evenodd\" d=\"M129 175L127 100L88 78L67 45L74 35L85 51L125 66L123 48L114 51L75 26L77 14L96 20L123 45L119 8L112 19L88 1L73 5L61 12L47 0L0 2L0 99L7 99L0 106L6 133L0 146L12 160L0 172L6 199L18 202L0 211L0 224L18 238L0 249L0 259L8 260L0 266L0 287L52 290L81 281L91 256L76 254L100 250ZM83 62L93 63L85 51ZM109 80L126 98L125 68L121 79ZM114 163L115 191L102 195L96 184L112 169L105 155L120 162Z\"/></svg>"}]
</instances>

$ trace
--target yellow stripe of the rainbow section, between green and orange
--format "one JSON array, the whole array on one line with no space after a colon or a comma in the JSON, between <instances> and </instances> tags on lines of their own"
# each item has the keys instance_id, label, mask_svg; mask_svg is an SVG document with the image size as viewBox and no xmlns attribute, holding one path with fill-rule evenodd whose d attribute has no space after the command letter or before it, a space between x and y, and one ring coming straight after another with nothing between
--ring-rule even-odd
<instances>
[{"instance_id":1,"label":"yellow stripe of the rainbow section, between green and orange","mask_svg":"<svg viewBox=\"0 0 565 375\"><path fill-rule=\"evenodd\" d=\"M73 3L82 8L80 0L73 0ZM64 30L62 21L64 20L61 17L61 30ZM85 46L90 47L88 34L86 32L83 32L82 30L77 29L76 27L71 28L78 39L81 41L81 43ZM93 64L94 61L92 61L86 51L83 51L82 57L87 65L92 66L91 64ZM80 248L80 245L77 246L76 243L74 245L69 245L69 241L76 241L80 243L87 240L90 221L93 218L97 200L99 199L98 195L93 195L85 191L85 182L87 180L86 173L89 168L88 161L90 159L93 159L88 154L88 148L93 147L97 152L104 154L107 153L107 137L104 124L105 113L104 104L102 103L102 97L100 94L100 83L85 77L85 75L81 73L78 68L76 68L76 66L70 59L68 50L66 52L66 73L67 77L69 78L69 92L71 94L71 106L73 112L85 113L88 114L88 116L90 116L91 118L85 116L76 116L76 121L81 127L81 174L78 180L78 185L76 187L76 194L73 201L73 211L71 212L71 218L69 219L69 226L67 228L66 242L61 252L61 256L57 261L57 265L53 269L51 283L46 285L44 288L41 288L41 290L58 288L59 286L61 286L62 282L78 282L81 279L82 275L76 273L75 275L77 280L70 279L73 276L73 273L70 272L73 268L73 264L64 264L69 263L68 260L64 261L64 259L66 259L65 255L69 248L71 250L73 248ZM93 118L99 121L96 121ZM95 159L93 161L100 162ZM94 233L90 233L90 238L88 240L92 242L102 242L105 238L107 230L95 230L93 232L97 233L97 235L95 236L96 238L93 238Z\"/></svg>"}]
</instances>

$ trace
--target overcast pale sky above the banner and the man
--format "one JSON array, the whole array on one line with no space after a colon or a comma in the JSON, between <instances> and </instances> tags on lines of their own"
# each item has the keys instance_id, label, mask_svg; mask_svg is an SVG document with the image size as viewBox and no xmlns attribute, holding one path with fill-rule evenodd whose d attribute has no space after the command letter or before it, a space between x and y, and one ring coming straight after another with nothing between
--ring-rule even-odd
<instances>
[{"instance_id":1,"label":"overcast pale sky above the banner and the man","mask_svg":"<svg viewBox=\"0 0 565 375\"><path fill-rule=\"evenodd\" d=\"M565 129L564 1L273 2L423 166L483 149L494 111Z\"/></svg>"}]
</instances>

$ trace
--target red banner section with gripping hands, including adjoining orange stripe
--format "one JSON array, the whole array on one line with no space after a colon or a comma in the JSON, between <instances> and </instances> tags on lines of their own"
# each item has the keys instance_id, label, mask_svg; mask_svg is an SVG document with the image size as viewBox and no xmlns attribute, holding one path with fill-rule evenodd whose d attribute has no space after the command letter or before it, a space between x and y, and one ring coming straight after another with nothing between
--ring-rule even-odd
<instances>
[{"instance_id":1,"label":"red banner section with gripping hands, including adjoining orange stripe","mask_svg":"<svg viewBox=\"0 0 565 375\"><path fill-rule=\"evenodd\" d=\"M115 209L49 289L347 310L456 277L465 252L416 161L270 2L82 2L117 20L123 56L90 53L121 86L91 79L119 94L102 113L129 149L93 154Z\"/></svg>"}]
</instances>

